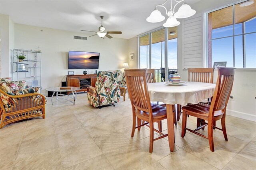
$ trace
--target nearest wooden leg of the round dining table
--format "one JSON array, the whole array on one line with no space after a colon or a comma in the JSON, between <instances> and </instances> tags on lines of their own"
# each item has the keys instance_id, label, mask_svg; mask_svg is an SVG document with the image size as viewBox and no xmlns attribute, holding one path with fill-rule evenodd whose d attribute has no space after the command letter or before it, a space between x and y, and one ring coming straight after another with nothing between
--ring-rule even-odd
<instances>
[{"instance_id":1,"label":"nearest wooden leg of the round dining table","mask_svg":"<svg viewBox=\"0 0 256 170\"><path fill-rule=\"evenodd\" d=\"M166 113L167 113L167 131L168 131L168 140L170 151L174 150L174 120L172 115L172 105L166 104Z\"/></svg>"}]
</instances>

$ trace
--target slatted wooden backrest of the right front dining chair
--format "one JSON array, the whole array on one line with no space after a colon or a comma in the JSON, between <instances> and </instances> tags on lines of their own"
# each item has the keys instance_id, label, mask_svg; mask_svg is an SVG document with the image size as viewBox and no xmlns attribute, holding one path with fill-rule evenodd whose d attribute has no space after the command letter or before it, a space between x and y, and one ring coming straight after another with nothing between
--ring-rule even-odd
<instances>
[{"instance_id":1,"label":"slatted wooden backrest of the right front dining chair","mask_svg":"<svg viewBox=\"0 0 256 170\"><path fill-rule=\"evenodd\" d=\"M209 117L213 117L214 111L222 110L228 104L234 82L234 70L235 68L218 67L218 79L210 106Z\"/></svg>"}]
</instances>

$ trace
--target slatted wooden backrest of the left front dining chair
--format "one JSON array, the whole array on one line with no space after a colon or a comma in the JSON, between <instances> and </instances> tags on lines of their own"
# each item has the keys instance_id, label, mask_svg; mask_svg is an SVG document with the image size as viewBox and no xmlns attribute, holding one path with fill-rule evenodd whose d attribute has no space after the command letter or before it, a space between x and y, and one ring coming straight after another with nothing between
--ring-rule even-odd
<instances>
[{"instance_id":1,"label":"slatted wooden backrest of the left front dining chair","mask_svg":"<svg viewBox=\"0 0 256 170\"><path fill-rule=\"evenodd\" d=\"M150 97L146 81L146 69L125 69L127 89L132 106L151 113Z\"/></svg>"}]
</instances>

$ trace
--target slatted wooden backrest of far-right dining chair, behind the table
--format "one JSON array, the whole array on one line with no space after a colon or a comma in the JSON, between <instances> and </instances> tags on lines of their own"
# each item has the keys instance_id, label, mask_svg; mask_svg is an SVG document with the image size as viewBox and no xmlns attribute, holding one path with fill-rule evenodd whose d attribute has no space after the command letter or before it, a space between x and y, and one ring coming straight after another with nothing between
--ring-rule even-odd
<instances>
[{"instance_id":1,"label":"slatted wooden backrest of far-right dining chair, behind the table","mask_svg":"<svg viewBox=\"0 0 256 170\"><path fill-rule=\"evenodd\" d=\"M213 83L214 68L188 68L188 81Z\"/></svg>"}]
</instances>

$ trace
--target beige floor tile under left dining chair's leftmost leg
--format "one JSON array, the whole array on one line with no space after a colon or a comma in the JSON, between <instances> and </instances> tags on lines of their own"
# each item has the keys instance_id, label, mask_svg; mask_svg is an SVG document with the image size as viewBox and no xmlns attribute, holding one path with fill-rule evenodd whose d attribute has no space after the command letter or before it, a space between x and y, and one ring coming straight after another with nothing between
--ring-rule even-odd
<instances>
[{"instance_id":1,"label":"beige floor tile under left dining chair's leftmost leg","mask_svg":"<svg viewBox=\"0 0 256 170\"><path fill-rule=\"evenodd\" d=\"M150 135L149 130L144 127L141 127L140 130L135 129L133 137L131 137L132 127L120 129L119 132L121 132L126 138L128 138L132 142L136 142Z\"/></svg>"}]
</instances>

